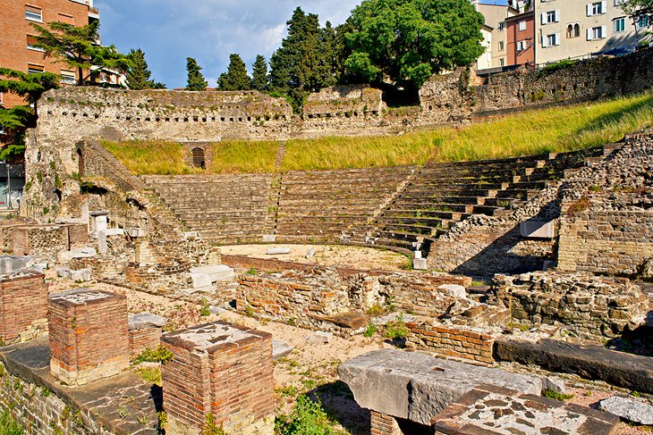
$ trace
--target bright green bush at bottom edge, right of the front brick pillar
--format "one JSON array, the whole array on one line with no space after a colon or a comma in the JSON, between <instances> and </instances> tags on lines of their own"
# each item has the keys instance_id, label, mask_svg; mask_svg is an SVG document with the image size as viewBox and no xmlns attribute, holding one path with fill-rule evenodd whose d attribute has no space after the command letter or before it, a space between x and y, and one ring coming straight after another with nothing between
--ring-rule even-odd
<instances>
[{"instance_id":1,"label":"bright green bush at bottom edge, right of the front brick pillar","mask_svg":"<svg viewBox=\"0 0 653 435\"><path fill-rule=\"evenodd\" d=\"M277 435L336 434L319 402L313 402L303 394L297 397L293 413L276 417L275 433Z\"/></svg>"}]
</instances>

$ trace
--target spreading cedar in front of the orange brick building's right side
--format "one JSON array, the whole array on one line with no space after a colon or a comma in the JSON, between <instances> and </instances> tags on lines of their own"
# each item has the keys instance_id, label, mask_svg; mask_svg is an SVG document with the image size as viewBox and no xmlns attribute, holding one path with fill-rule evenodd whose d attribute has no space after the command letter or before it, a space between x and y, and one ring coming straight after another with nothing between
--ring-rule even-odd
<instances>
[{"instance_id":1,"label":"spreading cedar in front of the orange brick building's right side","mask_svg":"<svg viewBox=\"0 0 653 435\"><path fill-rule=\"evenodd\" d=\"M77 70L78 85L94 84L103 71L127 73L131 68L130 58L118 53L115 46L98 45L99 21L81 27L59 21L47 23L47 28L32 26L38 32L35 46L42 48L45 56Z\"/></svg>"}]
</instances>

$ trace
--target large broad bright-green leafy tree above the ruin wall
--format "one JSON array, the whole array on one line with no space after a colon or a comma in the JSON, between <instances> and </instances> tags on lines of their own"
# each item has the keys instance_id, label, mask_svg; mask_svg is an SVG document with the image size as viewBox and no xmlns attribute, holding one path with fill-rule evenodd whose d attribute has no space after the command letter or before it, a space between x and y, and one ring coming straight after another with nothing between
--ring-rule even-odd
<instances>
[{"instance_id":1,"label":"large broad bright-green leafy tree above the ruin wall","mask_svg":"<svg viewBox=\"0 0 653 435\"><path fill-rule=\"evenodd\" d=\"M418 89L432 74L468 65L483 53L483 22L469 0L363 0L344 36L352 51L346 73Z\"/></svg>"}]
</instances>

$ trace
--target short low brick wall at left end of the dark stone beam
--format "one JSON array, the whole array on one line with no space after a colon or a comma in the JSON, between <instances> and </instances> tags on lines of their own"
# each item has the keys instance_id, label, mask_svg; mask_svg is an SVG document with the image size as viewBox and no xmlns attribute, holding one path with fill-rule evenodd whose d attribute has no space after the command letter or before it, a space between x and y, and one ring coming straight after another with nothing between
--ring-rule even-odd
<instances>
[{"instance_id":1,"label":"short low brick wall at left end of the dark stone beam","mask_svg":"<svg viewBox=\"0 0 653 435\"><path fill-rule=\"evenodd\" d=\"M495 362L492 358L495 339L481 330L432 322L409 322L406 326L406 347L465 362L484 365Z\"/></svg>"}]
</instances>

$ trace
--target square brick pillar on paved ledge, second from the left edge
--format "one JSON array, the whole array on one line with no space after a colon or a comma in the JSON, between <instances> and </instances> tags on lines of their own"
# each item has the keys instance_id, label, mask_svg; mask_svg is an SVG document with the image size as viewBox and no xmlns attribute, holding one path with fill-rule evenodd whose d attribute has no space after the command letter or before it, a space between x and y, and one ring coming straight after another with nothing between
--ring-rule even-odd
<instances>
[{"instance_id":1,"label":"square brick pillar on paved ledge, second from the left edge","mask_svg":"<svg viewBox=\"0 0 653 435\"><path fill-rule=\"evenodd\" d=\"M50 371L68 385L114 376L129 367L127 299L93 289L50 295Z\"/></svg>"}]
</instances>

